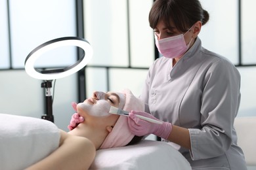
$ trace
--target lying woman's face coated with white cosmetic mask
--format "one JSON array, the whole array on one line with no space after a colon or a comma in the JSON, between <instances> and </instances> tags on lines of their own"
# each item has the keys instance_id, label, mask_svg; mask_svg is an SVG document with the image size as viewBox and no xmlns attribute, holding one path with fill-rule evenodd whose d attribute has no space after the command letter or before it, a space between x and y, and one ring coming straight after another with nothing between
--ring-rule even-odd
<instances>
[{"instance_id":1,"label":"lying woman's face coated with white cosmetic mask","mask_svg":"<svg viewBox=\"0 0 256 170\"><path fill-rule=\"evenodd\" d=\"M77 104L79 114L88 114L98 118L114 116L109 113L110 106L123 108L125 104L125 95L116 92L94 92L93 97L89 97L83 103ZM86 115L81 115L86 116Z\"/></svg>"}]
</instances>

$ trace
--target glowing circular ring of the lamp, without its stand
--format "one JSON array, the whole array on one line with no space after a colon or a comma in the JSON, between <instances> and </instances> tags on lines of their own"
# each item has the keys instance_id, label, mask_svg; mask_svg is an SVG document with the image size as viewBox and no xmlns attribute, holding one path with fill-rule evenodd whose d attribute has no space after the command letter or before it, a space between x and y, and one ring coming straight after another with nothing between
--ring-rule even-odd
<instances>
[{"instance_id":1,"label":"glowing circular ring of the lamp, without its stand","mask_svg":"<svg viewBox=\"0 0 256 170\"><path fill-rule=\"evenodd\" d=\"M40 71L33 67L36 59L39 58L39 56L60 46L78 46L79 48L83 49L84 55L76 63L63 69ZM32 76L33 78L40 80L54 80L76 73L85 67L85 65L87 65L92 56L93 48L91 48L91 44L89 44L89 42L85 39L80 37L62 37L45 42L32 50L32 52L30 52L30 54L28 54L27 58L25 59L25 70L26 73L28 73L28 75Z\"/></svg>"}]
</instances>

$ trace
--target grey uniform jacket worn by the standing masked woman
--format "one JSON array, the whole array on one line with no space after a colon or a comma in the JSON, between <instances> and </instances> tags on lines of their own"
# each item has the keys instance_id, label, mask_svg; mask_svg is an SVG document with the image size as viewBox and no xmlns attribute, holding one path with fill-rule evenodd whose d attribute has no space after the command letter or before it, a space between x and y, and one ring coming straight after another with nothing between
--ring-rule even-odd
<instances>
[{"instance_id":1,"label":"grey uniform jacket worn by the standing masked woman","mask_svg":"<svg viewBox=\"0 0 256 170\"><path fill-rule=\"evenodd\" d=\"M233 126L240 73L228 59L203 48L199 38L174 67L169 58L154 61L140 98L156 118L189 129L191 150L170 144L193 169L246 169Z\"/></svg>"}]
</instances>

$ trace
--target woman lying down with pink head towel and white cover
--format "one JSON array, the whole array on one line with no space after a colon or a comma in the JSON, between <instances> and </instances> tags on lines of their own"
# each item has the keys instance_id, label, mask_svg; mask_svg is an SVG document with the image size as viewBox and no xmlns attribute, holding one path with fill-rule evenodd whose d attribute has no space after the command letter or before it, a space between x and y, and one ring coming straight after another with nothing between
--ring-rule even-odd
<instances>
[{"instance_id":1,"label":"woman lying down with pink head towel and white cover","mask_svg":"<svg viewBox=\"0 0 256 170\"><path fill-rule=\"evenodd\" d=\"M77 104L85 120L68 133L47 120L0 114L0 169L88 169L97 149L139 141L129 131L127 117L109 113L110 105L144 110L129 90L95 92Z\"/></svg>"}]
</instances>

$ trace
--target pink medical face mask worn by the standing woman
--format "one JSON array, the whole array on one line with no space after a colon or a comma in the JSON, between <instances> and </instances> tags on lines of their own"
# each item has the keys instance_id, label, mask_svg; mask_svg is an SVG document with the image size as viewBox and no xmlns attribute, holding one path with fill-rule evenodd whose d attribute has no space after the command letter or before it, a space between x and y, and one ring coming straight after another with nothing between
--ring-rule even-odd
<instances>
[{"instance_id":1,"label":"pink medical face mask worn by the standing woman","mask_svg":"<svg viewBox=\"0 0 256 170\"><path fill-rule=\"evenodd\" d=\"M190 29L188 29L188 31ZM188 31L186 31L186 33L188 33ZM184 33L184 35L186 33ZM186 52L186 50L188 50L190 42L192 41L191 39L190 42L186 45L184 35L181 34L160 40L158 40L158 37L155 35L156 46L158 47L158 51L165 58L181 58L181 56Z\"/></svg>"}]
</instances>

